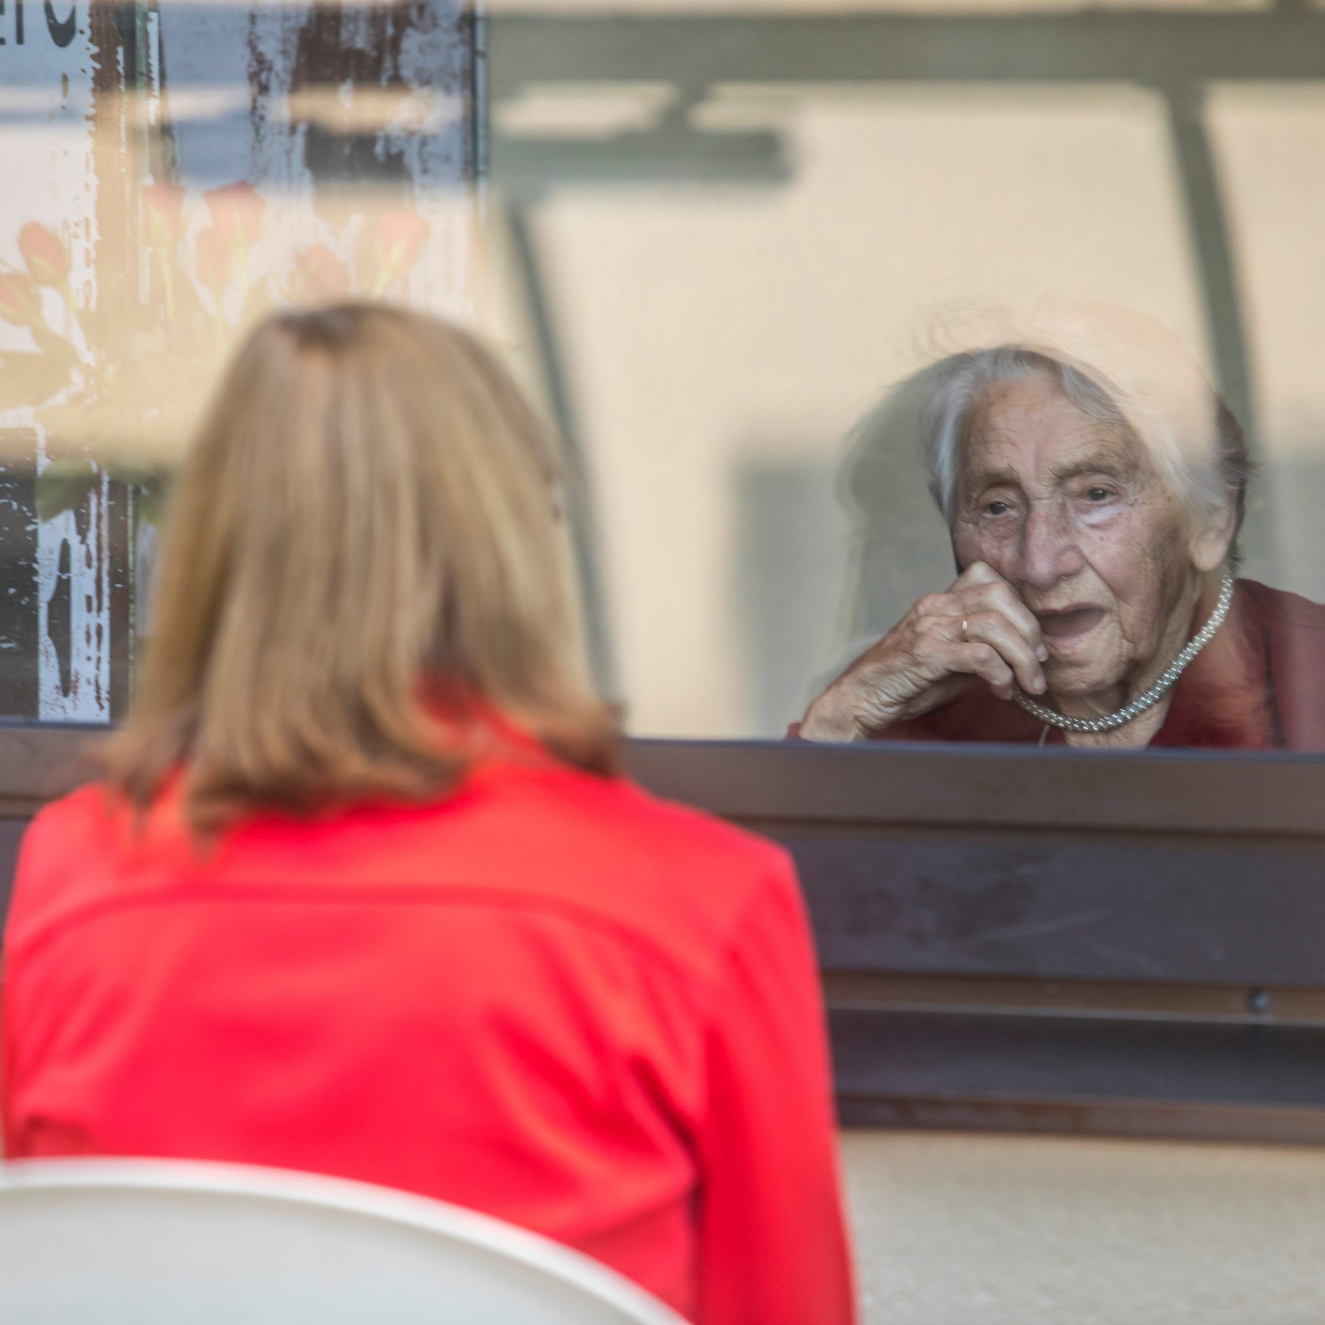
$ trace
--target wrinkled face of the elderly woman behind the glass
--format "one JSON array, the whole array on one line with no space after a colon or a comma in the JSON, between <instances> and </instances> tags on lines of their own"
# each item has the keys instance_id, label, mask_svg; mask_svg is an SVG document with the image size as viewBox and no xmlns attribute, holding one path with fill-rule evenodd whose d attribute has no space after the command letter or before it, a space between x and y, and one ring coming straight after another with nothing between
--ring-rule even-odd
<instances>
[{"instance_id":1,"label":"wrinkled face of the elderly woman behind the glass","mask_svg":"<svg viewBox=\"0 0 1325 1325\"><path fill-rule=\"evenodd\" d=\"M1186 631L1199 576L1185 514L1143 448L1044 376L990 388L973 419L954 527L1040 621L1049 690L1124 681Z\"/></svg>"}]
</instances>

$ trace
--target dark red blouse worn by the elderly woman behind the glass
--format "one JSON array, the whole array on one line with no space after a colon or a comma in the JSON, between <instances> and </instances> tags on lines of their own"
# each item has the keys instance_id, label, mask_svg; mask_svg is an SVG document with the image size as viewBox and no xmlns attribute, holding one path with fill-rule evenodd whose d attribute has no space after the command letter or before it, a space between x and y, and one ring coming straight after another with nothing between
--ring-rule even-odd
<instances>
[{"instance_id":1,"label":"dark red blouse worn by the elderly woman behind the glass","mask_svg":"<svg viewBox=\"0 0 1325 1325\"><path fill-rule=\"evenodd\" d=\"M941 708L882 727L871 739L1034 745L1043 731L1044 723L1024 709L973 681ZM1045 743L1064 739L1051 727ZM1227 620L1174 685L1150 745L1325 750L1325 607L1239 580Z\"/></svg>"}]
</instances>

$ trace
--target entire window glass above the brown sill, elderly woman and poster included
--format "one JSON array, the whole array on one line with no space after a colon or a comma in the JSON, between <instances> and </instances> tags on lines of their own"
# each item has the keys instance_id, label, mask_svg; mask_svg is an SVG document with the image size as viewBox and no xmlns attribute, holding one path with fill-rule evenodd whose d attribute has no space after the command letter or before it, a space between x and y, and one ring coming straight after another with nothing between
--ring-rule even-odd
<instances>
[{"instance_id":1,"label":"entire window glass above the brown sill, elderly woman and poster included","mask_svg":"<svg viewBox=\"0 0 1325 1325\"><path fill-rule=\"evenodd\" d=\"M11 0L0 37L0 718L123 713L217 367L358 294L539 396L635 733L1325 749L1318 7Z\"/></svg>"}]
</instances>

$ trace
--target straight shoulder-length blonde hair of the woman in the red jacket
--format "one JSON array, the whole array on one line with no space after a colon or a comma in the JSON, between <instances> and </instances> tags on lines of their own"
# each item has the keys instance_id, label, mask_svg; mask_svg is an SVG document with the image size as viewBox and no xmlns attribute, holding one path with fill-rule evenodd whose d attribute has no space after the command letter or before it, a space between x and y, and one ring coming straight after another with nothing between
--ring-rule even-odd
<instances>
[{"instance_id":1,"label":"straight shoulder-length blonde hair of the woman in the red jacket","mask_svg":"<svg viewBox=\"0 0 1325 1325\"><path fill-rule=\"evenodd\" d=\"M228 368L180 474L110 786L179 770L189 823L421 800L496 710L610 772L555 449L510 375L435 318L282 313Z\"/></svg>"}]
</instances>

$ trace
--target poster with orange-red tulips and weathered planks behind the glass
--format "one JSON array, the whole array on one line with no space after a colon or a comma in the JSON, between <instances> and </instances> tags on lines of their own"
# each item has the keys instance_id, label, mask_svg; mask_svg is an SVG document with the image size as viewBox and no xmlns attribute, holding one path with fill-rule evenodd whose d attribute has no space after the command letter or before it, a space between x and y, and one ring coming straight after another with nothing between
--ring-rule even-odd
<instances>
[{"instance_id":1,"label":"poster with orange-red tulips and weathered planks behind the glass","mask_svg":"<svg viewBox=\"0 0 1325 1325\"><path fill-rule=\"evenodd\" d=\"M453 4L0 11L0 716L111 721L170 477L236 339L347 295L469 311ZM20 17L21 16L21 17ZM50 21L48 21L50 20Z\"/></svg>"}]
</instances>

